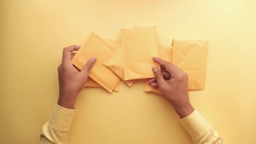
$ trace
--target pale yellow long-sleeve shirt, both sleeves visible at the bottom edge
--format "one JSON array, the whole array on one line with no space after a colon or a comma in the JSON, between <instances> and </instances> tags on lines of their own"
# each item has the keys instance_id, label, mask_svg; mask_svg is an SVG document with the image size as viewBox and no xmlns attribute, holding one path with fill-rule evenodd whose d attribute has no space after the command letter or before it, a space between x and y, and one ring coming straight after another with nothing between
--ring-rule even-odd
<instances>
[{"instance_id":1,"label":"pale yellow long-sleeve shirt, both sleeves visible at the bottom edge","mask_svg":"<svg viewBox=\"0 0 256 144\"><path fill-rule=\"evenodd\" d=\"M56 104L49 121L43 125L39 143L67 143L69 128L76 111ZM225 143L217 131L196 110L189 116L179 119L179 122L188 131L194 143Z\"/></svg>"}]
</instances>

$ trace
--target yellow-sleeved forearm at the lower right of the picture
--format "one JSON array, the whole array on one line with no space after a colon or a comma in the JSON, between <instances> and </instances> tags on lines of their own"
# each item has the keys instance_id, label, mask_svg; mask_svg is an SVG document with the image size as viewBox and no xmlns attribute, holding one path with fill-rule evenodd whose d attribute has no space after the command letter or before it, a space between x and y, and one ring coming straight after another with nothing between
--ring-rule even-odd
<instances>
[{"instance_id":1,"label":"yellow-sleeved forearm at the lower right of the picture","mask_svg":"<svg viewBox=\"0 0 256 144\"><path fill-rule=\"evenodd\" d=\"M218 132L196 110L185 118L179 119L196 144L225 143Z\"/></svg>"}]
</instances>

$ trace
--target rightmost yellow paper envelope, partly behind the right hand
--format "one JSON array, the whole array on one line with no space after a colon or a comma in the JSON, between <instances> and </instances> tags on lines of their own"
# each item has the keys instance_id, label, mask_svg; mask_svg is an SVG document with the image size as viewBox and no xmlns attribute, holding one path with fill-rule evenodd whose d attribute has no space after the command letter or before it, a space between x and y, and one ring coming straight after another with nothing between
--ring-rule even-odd
<instances>
[{"instance_id":1,"label":"rightmost yellow paper envelope, partly behind the right hand","mask_svg":"<svg viewBox=\"0 0 256 144\"><path fill-rule=\"evenodd\" d=\"M172 63L188 74L188 89L205 88L208 42L203 40L173 41Z\"/></svg>"}]
</instances>

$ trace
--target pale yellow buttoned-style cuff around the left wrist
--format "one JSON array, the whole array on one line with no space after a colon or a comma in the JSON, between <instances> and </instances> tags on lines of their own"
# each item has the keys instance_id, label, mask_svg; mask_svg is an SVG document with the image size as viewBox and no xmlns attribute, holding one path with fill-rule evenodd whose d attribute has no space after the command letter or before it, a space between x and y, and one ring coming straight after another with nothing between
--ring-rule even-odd
<instances>
[{"instance_id":1,"label":"pale yellow buttoned-style cuff around the left wrist","mask_svg":"<svg viewBox=\"0 0 256 144\"><path fill-rule=\"evenodd\" d=\"M48 124L54 129L69 130L76 111L76 109L66 109L55 104Z\"/></svg>"}]
</instances>

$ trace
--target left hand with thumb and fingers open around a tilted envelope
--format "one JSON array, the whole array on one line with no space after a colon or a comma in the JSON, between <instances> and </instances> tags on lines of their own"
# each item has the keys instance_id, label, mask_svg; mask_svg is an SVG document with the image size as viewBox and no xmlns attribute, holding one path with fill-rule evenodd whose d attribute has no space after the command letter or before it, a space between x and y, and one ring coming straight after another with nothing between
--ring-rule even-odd
<instances>
[{"instance_id":1,"label":"left hand with thumb and fingers open around a tilted envelope","mask_svg":"<svg viewBox=\"0 0 256 144\"><path fill-rule=\"evenodd\" d=\"M72 52L78 51L79 48L80 46L77 45L64 48L62 62L58 67L60 95L57 105L67 109L74 109L77 95L82 91L90 70L96 62L96 58L92 57L81 71L75 68L71 62L71 59L75 55L75 53Z\"/></svg>"}]
</instances>

